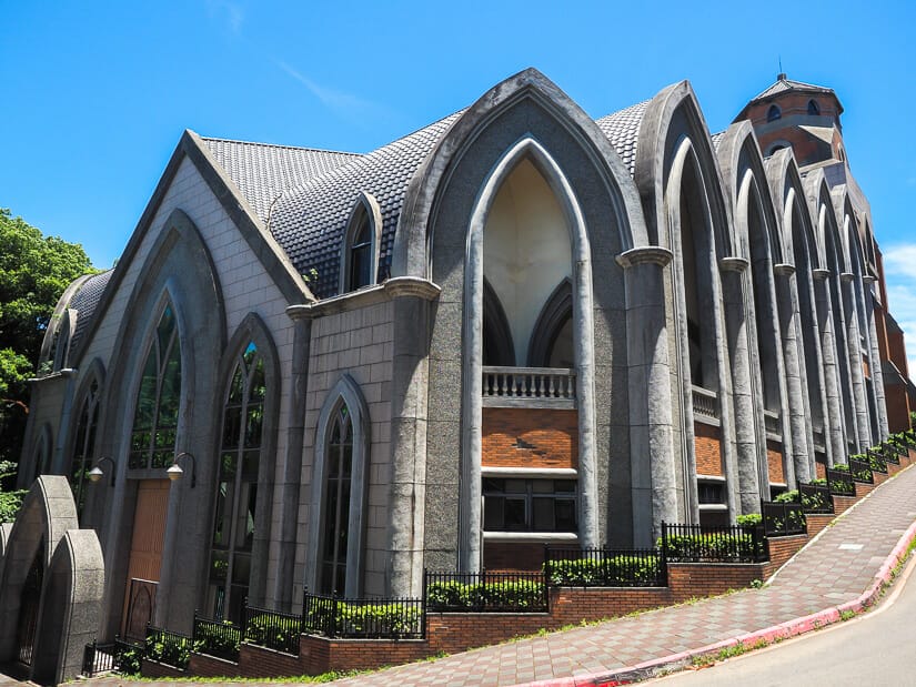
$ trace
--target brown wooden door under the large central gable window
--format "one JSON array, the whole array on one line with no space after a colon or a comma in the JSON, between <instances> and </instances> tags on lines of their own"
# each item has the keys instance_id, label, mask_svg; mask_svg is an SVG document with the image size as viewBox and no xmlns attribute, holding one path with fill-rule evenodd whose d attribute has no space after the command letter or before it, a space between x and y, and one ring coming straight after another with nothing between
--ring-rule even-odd
<instances>
[{"instance_id":1,"label":"brown wooden door under the large central gable window","mask_svg":"<svg viewBox=\"0 0 916 687\"><path fill-rule=\"evenodd\" d=\"M169 486L168 479L143 479L137 487L137 507L133 512L133 534L130 542L121 623L122 635L138 627L144 628L147 623L153 619L155 592L152 592L152 599L148 599L152 603L139 604L134 597L139 586L154 587L159 582L162 545L165 539L165 515L169 509ZM138 613L142 613L144 617L132 617Z\"/></svg>"}]
</instances>

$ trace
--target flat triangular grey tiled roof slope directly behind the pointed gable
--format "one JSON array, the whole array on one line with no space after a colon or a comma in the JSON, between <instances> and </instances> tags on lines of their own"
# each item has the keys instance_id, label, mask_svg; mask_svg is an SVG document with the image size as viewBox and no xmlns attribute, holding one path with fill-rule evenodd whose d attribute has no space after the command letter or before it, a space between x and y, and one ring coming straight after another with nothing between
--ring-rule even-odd
<instances>
[{"instance_id":1,"label":"flat triangular grey tiled roof slope directly behind the pointed gable","mask_svg":"<svg viewBox=\"0 0 916 687\"><path fill-rule=\"evenodd\" d=\"M356 153L225 139L204 138L203 142L263 222L283 191L360 158Z\"/></svg>"}]
</instances>

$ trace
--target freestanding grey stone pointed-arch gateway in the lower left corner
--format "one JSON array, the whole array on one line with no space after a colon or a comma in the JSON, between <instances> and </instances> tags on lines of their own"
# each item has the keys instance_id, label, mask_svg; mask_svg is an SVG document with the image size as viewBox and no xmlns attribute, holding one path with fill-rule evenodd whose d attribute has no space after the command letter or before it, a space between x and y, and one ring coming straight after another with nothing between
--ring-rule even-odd
<instances>
[{"instance_id":1,"label":"freestanding grey stone pointed-arch gateway in the lower left corner","mask_svg":"<svg viewBox=\"0 0 916 687\"><path fill-rule=\"evenodd\" d=\"M77 677L103 592L99 538L79 528L70 484L40 476L16 522L0 525L0 664L46 685Z\"/></svg>"}]
</instances>

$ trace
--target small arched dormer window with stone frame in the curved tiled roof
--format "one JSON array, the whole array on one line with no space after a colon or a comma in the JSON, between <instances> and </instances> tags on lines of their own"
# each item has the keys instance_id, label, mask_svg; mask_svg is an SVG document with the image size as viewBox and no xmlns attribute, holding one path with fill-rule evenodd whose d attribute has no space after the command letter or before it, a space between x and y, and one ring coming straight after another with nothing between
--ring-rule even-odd
<instances>
[{"instance_id":1,"label":"small arched dormer window with stone frame in the curved tiled roof","mask_svg":"<svg viewBox=\"0 0 916 687\"><path fill-rule=\"evenodd\" d=\"M341 244L340 293L376 283L382 241L382 209L375 196L360 192L350 211Z\"/></svg>"}]
</instances>

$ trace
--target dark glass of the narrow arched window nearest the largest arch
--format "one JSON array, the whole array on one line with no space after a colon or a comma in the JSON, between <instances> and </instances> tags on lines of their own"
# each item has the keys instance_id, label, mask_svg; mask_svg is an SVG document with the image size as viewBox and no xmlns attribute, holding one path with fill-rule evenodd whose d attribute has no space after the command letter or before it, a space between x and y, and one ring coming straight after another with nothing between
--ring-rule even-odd
<instances>
[{"instance_id":1,"label":"dark glass of the narrow arched window nearest the largest arch","mask_svg":"<svg viewBox=\"0 0 916 687\"><path fill-rule=\"evenodd\" d=\"M322 594L343 594L346 588L353 476L353 422L345 403L338 406L331 423L325 453L323 532L318 588Z\"/></svg>"}]
</instances>

